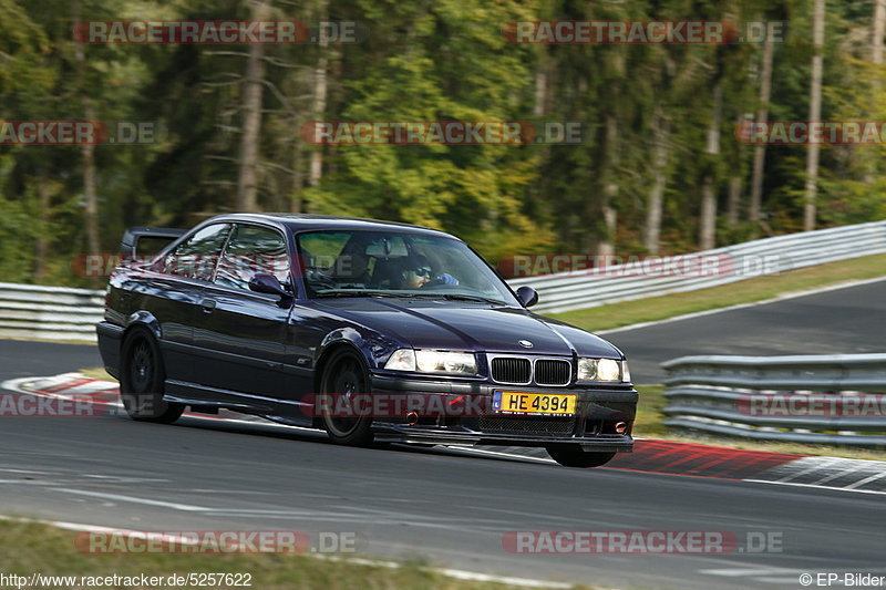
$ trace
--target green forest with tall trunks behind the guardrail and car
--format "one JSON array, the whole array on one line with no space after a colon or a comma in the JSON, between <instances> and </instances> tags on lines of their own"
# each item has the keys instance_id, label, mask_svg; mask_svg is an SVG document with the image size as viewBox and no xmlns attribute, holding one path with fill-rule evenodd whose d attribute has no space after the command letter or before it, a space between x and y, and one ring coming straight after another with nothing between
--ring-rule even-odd
<instances>
[{"instance_id":1,"label":"green forest with tall trunks behind the guardrail and car","mask_svg":"<svg viewBox=\"0 0 886 590\"><path fill-rule=\"evenodd\" d=\"M225 20L293 22L277 31L293 39L91 28ZM579 42L539 25L555 21L625 27ZM648 27L683 21L727 34ZM493 263L886 217L883 142L748 133L883 125L886 0L0 0L0 281L97 287L72 261L126 227L227 211L419 224ZM50 145L22 122L105 133ZM498 139L436 141L429 122ZM403 130L421 141L391 141Z\"/></svg>"}]
</instances>

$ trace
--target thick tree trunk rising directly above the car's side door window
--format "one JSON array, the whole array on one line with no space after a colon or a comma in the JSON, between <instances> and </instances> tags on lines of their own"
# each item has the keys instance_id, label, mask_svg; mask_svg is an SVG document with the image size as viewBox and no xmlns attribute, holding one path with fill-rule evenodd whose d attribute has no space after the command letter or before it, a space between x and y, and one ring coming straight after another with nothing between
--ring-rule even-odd
<instances>
[{"instance_id":1,"label":"thick tree trunk rising directly above the car's side door window","mask_svg":"<svg viewBox=\"0 0 886 590\"><path fill-rule=\"evenodd\" d=\"M254 0L251 19L265 21L270 7L265 0ZM265 45L249 45L246 80L243 93L243 133L240 134L240 170L237 177L238 211L258 210L258 149L261 139L261 96L265 80Z\"/></svg>"}]
</instances>

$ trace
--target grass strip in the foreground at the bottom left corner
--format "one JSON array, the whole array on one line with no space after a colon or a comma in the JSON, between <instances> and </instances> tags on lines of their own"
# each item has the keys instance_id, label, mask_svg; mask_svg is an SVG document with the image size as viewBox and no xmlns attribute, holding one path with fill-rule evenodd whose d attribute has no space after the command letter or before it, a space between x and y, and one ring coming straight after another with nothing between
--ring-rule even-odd
<instances>
[{"instance_id":1,"label":"grass strip in the foreground at the bottom left corner","mask_svg":"<svg viewBox=\"0 0 886 590\"><path fill-rule=\"evenodd\" d=\"M226 572L251 575L261 590L507 590L517 587L457 580L420 562L399 568L285 555L89 555L74 547L76 532L45 525L0 521L0 571L7 576L161 576ZM165 584L163 584L165 587ZM85 589L87 584L65 584ZM123 588L116 586L115 588ZM143 586L126 586L141 589ZM224 587L227 588L227 587ZM588 588L588 587L576 587Z\"/></svg>"}]
</instances>

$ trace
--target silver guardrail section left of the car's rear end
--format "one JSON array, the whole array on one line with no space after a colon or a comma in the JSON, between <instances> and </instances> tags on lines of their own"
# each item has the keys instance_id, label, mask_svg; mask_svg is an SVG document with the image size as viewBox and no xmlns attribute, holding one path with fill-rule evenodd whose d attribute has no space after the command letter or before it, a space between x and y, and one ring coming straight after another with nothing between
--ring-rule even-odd
<instances>
[{"instance_id":1,"label":"silver guardrail section left of the car's rear end","mask_svg":"<svg viewBox=\"0 0 886 590\"><path fill-rule=\"evenodd\" d=\"M94 342L104 291L0 282L0 337Z\"/></svg>"}]
</instances>

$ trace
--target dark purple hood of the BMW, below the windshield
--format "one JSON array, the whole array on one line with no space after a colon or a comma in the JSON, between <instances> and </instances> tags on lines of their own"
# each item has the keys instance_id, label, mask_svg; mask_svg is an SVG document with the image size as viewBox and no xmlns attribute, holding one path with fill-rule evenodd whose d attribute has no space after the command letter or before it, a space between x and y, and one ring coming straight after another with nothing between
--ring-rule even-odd
<instances>
[{"instance_id":1,"label":"dark purple hood of the BMW, below the windshield","mask_svg":"<svg viewBox=\"0 0 886 590\"><path fill-rule=\"evenodd\" d=\"M524 309L442 300L329 299L319 306L416 349L521 352L524 354L622 356L578 328ZM519 341L532 342L524 348Z\"/></svg>"}]
</instances>

